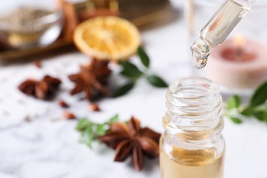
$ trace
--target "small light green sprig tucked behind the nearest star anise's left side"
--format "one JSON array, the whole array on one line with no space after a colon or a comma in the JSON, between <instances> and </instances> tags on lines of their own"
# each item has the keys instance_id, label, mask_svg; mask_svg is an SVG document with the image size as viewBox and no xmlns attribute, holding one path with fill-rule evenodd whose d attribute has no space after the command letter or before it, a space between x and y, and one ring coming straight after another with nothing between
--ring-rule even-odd
<instances>
[{"instance_id":1,"label":"small light green sprig tucked behind the nearest star anise's left side","mask_svg":"<svg viewBox=\"0 0 267 178\"><path fill-rule=\"evenodd\" d=\"M92 142L97 140L97 136L103 136L110 129L110 123L118 122L118 114L104 123L94 123L88 118L81 118L77 123L76 130L81 133L79 142L83 142L92 149Z\"/></svg>"}]
</instances>

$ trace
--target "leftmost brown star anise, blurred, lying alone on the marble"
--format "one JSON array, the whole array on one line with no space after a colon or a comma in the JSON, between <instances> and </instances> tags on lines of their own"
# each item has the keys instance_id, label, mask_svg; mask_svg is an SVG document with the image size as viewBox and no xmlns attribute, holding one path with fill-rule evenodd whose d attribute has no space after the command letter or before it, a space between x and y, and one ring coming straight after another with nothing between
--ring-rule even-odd
<instances>
[{"instance_id":1,"label":"leftmost brown star anise, blurred, lying alone on the marble","mask_svg":"<svg viewBox=\"0 0 267 178\"><path fill-rule=\"evenodd\" d=\"M23 83L18 86L18 89L21 90L21 92L38 99L48 99L53 95L55 90L58 90L60 84L60 79L45 75L40 81L37 81L36 79L27 79L23 81Z\"/></svg>"}]
</instances>

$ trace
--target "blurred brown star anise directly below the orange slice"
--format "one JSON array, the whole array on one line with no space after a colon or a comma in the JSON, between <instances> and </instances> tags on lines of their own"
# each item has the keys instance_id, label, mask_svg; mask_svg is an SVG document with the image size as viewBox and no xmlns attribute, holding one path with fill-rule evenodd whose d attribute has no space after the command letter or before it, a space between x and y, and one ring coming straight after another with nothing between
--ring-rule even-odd
<instances>
[{"instance_id":1,"label":"blurred brown star anise directly below the orange slice","mask_svg":"<svg viewBox=\"0 0 267 178\"><path fill-rule=\"evenodd\" d=\"M81 66L79 73L68 76L71 81L75 82L75 88L71 90L71 95L84 91L84 98L90 101L100 94L107 96L105 85L111 73L107 66L108 63L107 60L93 59L89 65Z\"/></svg>"}]
</instances>

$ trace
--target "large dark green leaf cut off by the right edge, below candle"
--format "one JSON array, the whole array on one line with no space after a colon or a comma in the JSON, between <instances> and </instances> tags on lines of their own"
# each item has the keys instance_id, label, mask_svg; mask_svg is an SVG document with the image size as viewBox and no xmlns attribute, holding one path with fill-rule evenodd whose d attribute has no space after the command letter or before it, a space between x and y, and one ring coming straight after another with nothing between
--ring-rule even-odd
<instances>
[{"instance_id":1,"label":"large dark green leaf cut off by the right edge, below candle","mask_svg":"<svg viewBox=\"0 0 267 178\"><path fill-rule=\"evenodd\" d=\"M266 99L267 99L267 81L264 82L264 84L262 84L255 90L253 97L251 98L250 105L251 106L261 105L266 102Z\"/></svg>"}]
</instances>

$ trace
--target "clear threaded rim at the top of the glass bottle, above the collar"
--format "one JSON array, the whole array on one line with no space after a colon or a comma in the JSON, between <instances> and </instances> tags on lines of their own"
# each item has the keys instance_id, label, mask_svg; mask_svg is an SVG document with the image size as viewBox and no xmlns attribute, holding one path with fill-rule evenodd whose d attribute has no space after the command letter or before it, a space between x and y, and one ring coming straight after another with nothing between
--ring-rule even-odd
<instances>
[{"instance_id":1,"label":"clear threaded rim at the top of the glass bottle, above the collar","mask_svg":"<svg viewBox=\"0 0 267 178\"><path fill-rule=\"evenodd\" d=\"M184 77L166 92L169 125L173 128L213 130L220 123L223 100L218 85L202 77Z\"/></svg>"}]
</instances>

